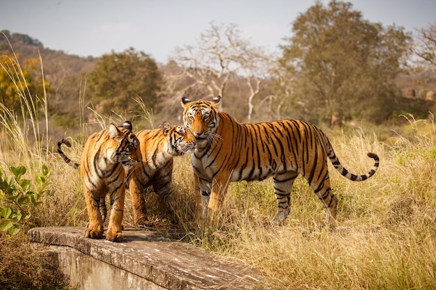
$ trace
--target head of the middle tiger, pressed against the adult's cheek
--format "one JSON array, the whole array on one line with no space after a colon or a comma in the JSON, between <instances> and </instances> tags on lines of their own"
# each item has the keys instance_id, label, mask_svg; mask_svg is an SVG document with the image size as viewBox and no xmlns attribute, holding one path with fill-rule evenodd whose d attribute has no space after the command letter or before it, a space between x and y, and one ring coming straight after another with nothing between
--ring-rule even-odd
<instances>
[{"instance_id":1,"label":"head of the middle tiger, pressed against the adult's cheek","mask_svg":"<svg viewBox=\"0 0 436 290\"><path fill-rule=\"evenodd\" d=\"M192 153L196 146L196 138L192 132L183 126L171 126L169 122L162 124L164 136L168 138L168 150L173 156Z\"/></svg>"}]
</instances>

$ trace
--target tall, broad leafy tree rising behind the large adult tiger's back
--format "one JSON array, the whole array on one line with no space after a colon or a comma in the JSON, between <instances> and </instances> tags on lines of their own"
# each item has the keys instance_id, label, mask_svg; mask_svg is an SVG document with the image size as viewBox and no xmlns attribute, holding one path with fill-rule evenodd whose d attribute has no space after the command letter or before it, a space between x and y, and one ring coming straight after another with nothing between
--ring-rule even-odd
<instances>
[{"instance_id":1,"label":"tall, broad leafy tree rising behind the large adult tiger's back","mask_svg":"<svg viewBox=\"0 0 436 290\"><path fill-rule=\"evenodd\" d=\"M351 3L317 1L297 17L287 40L279 63L297 76L293 104L313 122L389 118L410 42L403 28L368 22Z\"/></svg>"}]
</instances>

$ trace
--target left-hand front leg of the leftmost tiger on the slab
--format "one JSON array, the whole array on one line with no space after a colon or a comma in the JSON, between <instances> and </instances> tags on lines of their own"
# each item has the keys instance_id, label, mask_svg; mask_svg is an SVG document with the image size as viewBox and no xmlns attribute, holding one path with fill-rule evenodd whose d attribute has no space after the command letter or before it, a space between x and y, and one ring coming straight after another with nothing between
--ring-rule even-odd
<instances>
[{"instance_id":1,"label":"left-hand front leg of the leftmost tiger on the slab","mask_svg":"<svg viewBox=\"0 0 436 290\"><path fill-rule=\"evenodd\" d=\"M100 200L104 197L91 192L86 186L84 186L84 195L89 218L89 223L85 229L85 238L102 239L103 220L100 214Z\"/></svg>"}]
</instances>

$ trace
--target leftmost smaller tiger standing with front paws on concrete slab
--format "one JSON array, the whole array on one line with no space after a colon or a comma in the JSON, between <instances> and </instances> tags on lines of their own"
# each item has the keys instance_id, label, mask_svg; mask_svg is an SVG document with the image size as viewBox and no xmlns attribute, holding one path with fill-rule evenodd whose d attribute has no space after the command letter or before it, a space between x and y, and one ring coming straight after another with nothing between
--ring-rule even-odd
<instances>
[{"instance_id":1,"label":"leftmost smaller tiger standing with front paws on concrete slab","mask_svg":"<svg viewBox=\"0 0 436 290\"><path fill-rule=\"evenodd\" d=\"M123 241L122 222L125 198L125 170L141 160L139 140L132 132L132 123L125 121L122 126L109 124L108 129L89 136L81 154L80 166L69 159L61 145L71 146L68 140L58 142L58 152L73 168L80 168L84 184L86 209L89 223L84 236L102 239L103 223L106 219L105 197L109 193L111 215L107 227L108 241Z\"/></svg>"}]
</instances>

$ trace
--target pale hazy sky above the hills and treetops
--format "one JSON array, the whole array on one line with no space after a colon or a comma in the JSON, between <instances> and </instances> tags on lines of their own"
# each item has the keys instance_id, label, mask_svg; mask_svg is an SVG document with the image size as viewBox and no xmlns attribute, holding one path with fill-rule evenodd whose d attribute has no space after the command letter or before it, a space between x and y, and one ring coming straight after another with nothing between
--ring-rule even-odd
<instances>
[{"instance_id":1,"label":"pale hazy sky above the hills and treetops","mask_svg":"<svg viewBox=\"0 0 436 290\"><path fill-rule=\"evenodd\" d=\"M329 1L322 1L327 4ZM414 31L436 23L436 0L350 0L364 19ZM134 47L166 63L176 47L196 45L216 24L237 24L267 51L291 34L313 0L0 0L0 30L24 33L49 49L102 56Z\"/></svg>"}]
</instances>

